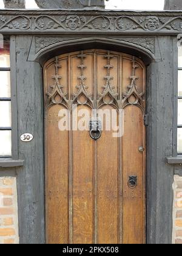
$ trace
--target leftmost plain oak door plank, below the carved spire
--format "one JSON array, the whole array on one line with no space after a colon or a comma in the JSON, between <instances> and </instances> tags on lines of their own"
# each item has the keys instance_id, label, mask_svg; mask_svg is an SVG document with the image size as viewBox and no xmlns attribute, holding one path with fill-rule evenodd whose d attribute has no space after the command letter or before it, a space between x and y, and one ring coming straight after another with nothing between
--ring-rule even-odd
<instances>
[{"instance_id":1,"label":"leftmost plain oak door plank, below the carved spire","mask_svg":"<svg viewBox=\"0 0 182 256\"><path fill-rule=\"evenodd\" d=\"M69 243L69 132L58 128L63 107L49 108L45 133L45 198L47 243Z\"/></svg>"}]
</instances>

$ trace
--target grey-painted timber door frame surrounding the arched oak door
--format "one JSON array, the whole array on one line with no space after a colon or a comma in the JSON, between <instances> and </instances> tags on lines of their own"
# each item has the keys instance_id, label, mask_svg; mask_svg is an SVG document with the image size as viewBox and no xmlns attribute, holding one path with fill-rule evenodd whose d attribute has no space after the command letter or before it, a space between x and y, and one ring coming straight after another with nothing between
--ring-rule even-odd
<instances>
[{"instance_id":1,"label":"grey-painted timber door frame surrounding the arched oak door","mask_svg":"<svg viewBox=\"0 0 182 256\"><path fill-rule=\"evenodd\" d=\"M82 12L84 12L82 14ZM76 30L59 27L40 29L31 23L27 29L21 27L22 16L25 19L49 18L55 15L85 15L87 18L98 15L89 10L1 10L7 18L2 24L2 34L11 35L11 62L16 66L12 72L12 87L16 95L12 104L17 105L17 125L13 129L13 152L17 159L24 160L23 167L10 168L18 179L18 210L20 243L45 243L44 230L44 104L42 84L42 64L58 52L69 51L69 48L88 48L95 44L103 49L117 48L141 59L147 65L147 243L172 243L172 208L175 169L170 166L166 157L177 155L177 35L180 30L173 27L166 29L164 20L160 20L155 30L147 27L147 17L156 19L167 17L167 24L176 19L181 22L181 12L110 12L99 11L99 15L112 18L114 15L125 15L132 20L143 16L143 28L128 30L87 29ZM64 14L66 13L66 14ZM111 17L112 16L112 17ZM56 16L57 17L57 16ZM179 20L180 17L180 20ZM18 20L20 27L8 27L12 19ZM169 20L168 20L169 19ZM28 20L29 24L30 20ZM158 27L159 26L159 27ZM79 30L79 31L78 31ZM80 33L83 32L83 33ZM93 36L94 35L94 36ZM55 39L56 38L56 39ZM83 43L84 42L84 43ZM152 43L153 42L153 43ZM101 46L103 45L103 46ZM21 49L21 51L19 51ZM79 50L79 49L78 49ZM29 70L29 73L27 73ZM23 76L22 74L26 74ZM33 76L32 76L33 74ZM26 99L26 101L25 101ZM36 106L36 107L35 107ZM15 111L15 110L14 110ZM28 121L27 121L28 120ZM42 120L42 122L40 122ZM17 129L16 129L17 126ZM34 134L35 140L30 144L19 141L26 130ZM16 154L14 154L16 155ZM2 174L3 175L3 172Z\"/></svg>"}]
</instances>

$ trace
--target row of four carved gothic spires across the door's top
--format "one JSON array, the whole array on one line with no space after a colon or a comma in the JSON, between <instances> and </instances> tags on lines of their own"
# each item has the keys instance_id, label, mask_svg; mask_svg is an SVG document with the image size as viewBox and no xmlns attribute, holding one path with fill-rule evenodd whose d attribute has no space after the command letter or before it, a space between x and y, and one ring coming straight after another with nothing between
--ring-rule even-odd
<instances>
[{"instance_id":1,"label":"row of four carved gothic spires across the door's top","mask_svg":"<svg viewBox=\"0 0 182 256\"><path fill-rule=\"evenodd\" d=\"M81 60L80 65L78 65L78 69L80 69L80 76L78 76L79 85L76 85L77 92L72 94L72 100L70 101L67 99L67 93L64 93L62 90L64 86L59 83L59 80L62 79L62 76L58 74L58 69L61 68L61 65L59 65L58 57L55 57L55 75L52 76L54 84L49 86L49 92L46 93L46 108L55 104L64 105L64 107L69 109L72 109L73 105L88 105L91 108L95 106L92 94L87 91L89 87L85 84L87 77L84 76L84 69L87 68L87 65L85 65L84 59L87 58L87 55L81 51L77 57ZM139 77L136 76L138 65L136 64L135 57L132 59L132 75L129 77L131 82L130 85L127 86L128 91L123 93L123 99L119 97L119 94L114 90L115 87L112 85L113 76L110 74L110 70L114 68L111 63L113 58L114 55L110 54L110 51L104 55L104 59L107 60L106 65L104 65L104 68L106 69L106 76L104 76L106 84L102 87L103 92L98 94L96 108L101 108L103 105L112 105L119 109L125 108L127 105L136 105L144 110L144 93L138 91L136 85L136 80ZM90 87L92 87L92 85L90 85Z\"/></svg>"}]
</instances>

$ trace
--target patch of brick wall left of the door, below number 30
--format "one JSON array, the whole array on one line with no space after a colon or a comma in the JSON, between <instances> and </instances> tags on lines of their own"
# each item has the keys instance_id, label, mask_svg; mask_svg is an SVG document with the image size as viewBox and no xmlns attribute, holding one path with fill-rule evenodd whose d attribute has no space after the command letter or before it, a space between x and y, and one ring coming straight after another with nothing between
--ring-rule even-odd
<instances>
[{"instance_id":1,"label":"patch of brick wall left of the door, below number 30","mask_svg":"<svg viewBox=\"0 0 182 256\"><path fill-rule=\"evenodd\" d=\"M0 177L0 244L18 243L16 178Z\"/></svg>"}]
</instances>

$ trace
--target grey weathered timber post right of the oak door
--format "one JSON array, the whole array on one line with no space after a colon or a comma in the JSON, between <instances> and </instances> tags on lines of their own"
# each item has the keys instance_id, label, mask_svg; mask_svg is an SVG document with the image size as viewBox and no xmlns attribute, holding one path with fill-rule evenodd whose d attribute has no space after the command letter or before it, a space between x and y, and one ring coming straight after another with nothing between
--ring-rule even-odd
<instances>
[{"instance_id":1,"label":"grey weathered timber post right of the oak door","mask_svg":"<svg viewBox=\"0 0 182 256\"><path fill-rule=\"evenodd\" d=\"M158 37L161 59L147 71L147 243L172 243L172 183L166 165L173 152L174 52L173 38ZM166 224L167 223L167 224Z\"/></svg>"}]
</instances>

